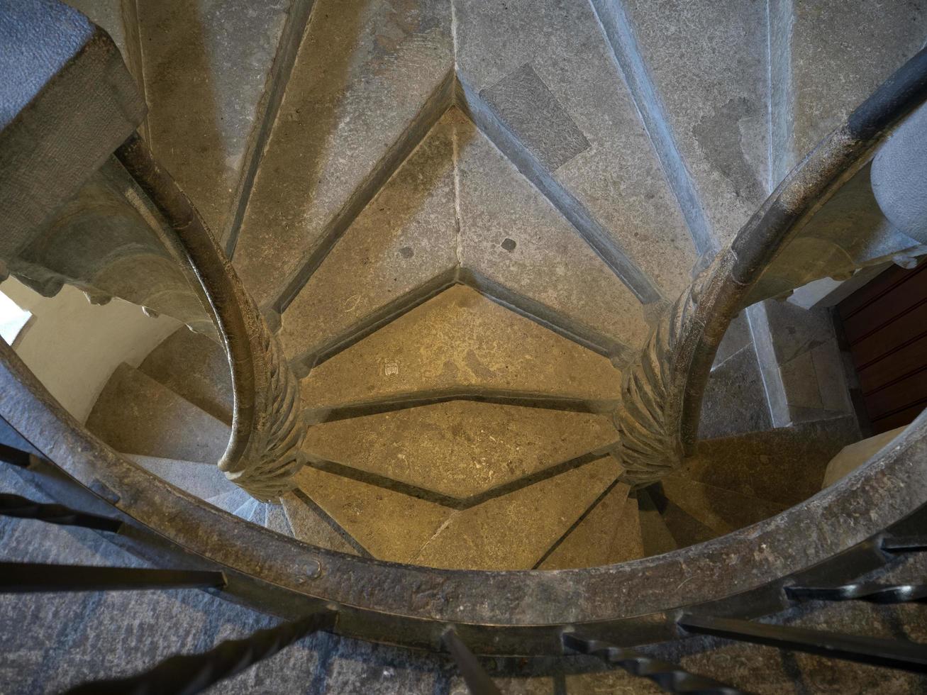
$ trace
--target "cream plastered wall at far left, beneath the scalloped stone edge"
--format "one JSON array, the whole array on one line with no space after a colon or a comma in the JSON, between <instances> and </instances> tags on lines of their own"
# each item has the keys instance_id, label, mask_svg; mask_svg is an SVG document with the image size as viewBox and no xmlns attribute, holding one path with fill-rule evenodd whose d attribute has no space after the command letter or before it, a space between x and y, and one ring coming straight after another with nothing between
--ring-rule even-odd
<instances>
[{"instance_id":1,"label":"cream plastered wall at far left, beneath the scalloped stone edge","mask_svg":"<svg viewBox=\"0 0 927 695\"><path fill-rule=\"evenodd\" d=\"M121 362L137 367L183 325L166 316L149 318L121 299L94 306L68 285L55 297L42 297L9 278L0 292L34 316L16 341L17 354L82 423Z\"/></svg>"}]
</instances>

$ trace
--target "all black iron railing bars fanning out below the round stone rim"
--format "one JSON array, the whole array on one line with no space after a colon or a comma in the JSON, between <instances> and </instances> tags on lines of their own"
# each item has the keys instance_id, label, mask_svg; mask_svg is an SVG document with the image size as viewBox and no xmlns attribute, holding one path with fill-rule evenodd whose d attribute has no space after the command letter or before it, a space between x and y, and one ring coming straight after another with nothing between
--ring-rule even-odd
<instances>
[{"instance_id":1,"label":"all black iron railing bars fanning out below the round stone rim","mask_svg":"<svg viewBox=\"0 0 927 695\"><path fill-rule=\"evenodd\" d=\"M10 447L0 451L0 459L12 465L30 459L31 454ZM10 504L0 513L38 519L52 524L72 524L104 532L118 532L121 521L88 512L77 512L60 505L46 505L18 496L5 496ZM13 506L15 503L16 506ZM56 507L55 513L47 513ZM883 550L896 554L927 549L927 537L886 537ZM210 588L221 590L226 584L222 572L190 569L146 569L96 567L65 564L0 562L0 593L38 591L113 591L140 589ZM857 600L870 603L922 602L927 587L921 585L883 586L846 584L835 587L787 586L789 601ZM683 614L676 621L682 636L706 635L779 649L818 654L835 660L885 666L913 673L927 673L927 645L898 639L870 638L791 625L760 623L706 614ZM297 620L258 630L247 638L224 641L210 651L182 654L156 664L145 673L115 680L97 680L70 689L70 695L106 693L138 694L171 692L193 695L223 678L235 676L254 663L273 656L301 638L320 630L337 632L335 606L315 608ZM674 663L629 650L598 637L583 634L581 627L561 625L563 653L597 656L605 663L623 668L633 676L649 678L671 693L703 695L742 695L744 691L717 680L693 674ZM447 625L442 642L457 663L470 692L498 695L493 682L476 655L458 635L455 625Z\"/></svg>"}]
</instances>

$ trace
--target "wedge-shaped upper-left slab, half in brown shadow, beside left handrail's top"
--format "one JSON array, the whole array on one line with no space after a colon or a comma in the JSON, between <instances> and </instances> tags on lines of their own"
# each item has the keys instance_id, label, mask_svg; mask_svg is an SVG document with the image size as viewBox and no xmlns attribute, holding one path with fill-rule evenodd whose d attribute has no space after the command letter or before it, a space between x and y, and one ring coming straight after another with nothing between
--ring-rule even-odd
<instances>
[{"instance_id":1,"label":"wedge-shaped upper-left slab, half in brown shadow, beside left handrail's top","mask_svg":"<svg viewBox=\"0 0 927 695\"><path fill-rule=\"evenodd\" d=\"M217 236L260 126L290 0L137 3L149 145Z\"/></svg>"}]
</instances>

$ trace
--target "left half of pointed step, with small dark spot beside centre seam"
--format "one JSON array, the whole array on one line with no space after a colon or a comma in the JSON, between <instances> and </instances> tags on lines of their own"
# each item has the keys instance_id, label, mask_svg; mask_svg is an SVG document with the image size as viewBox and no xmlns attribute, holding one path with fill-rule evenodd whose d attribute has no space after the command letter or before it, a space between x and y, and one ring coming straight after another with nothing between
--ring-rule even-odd
<instances>
[{"instance_id":1,"label":"left half of pointed step, with small dark spot beside centre seam","mask_svg":"<svg viewBox=\"0 0 927 695\"><path fill-rule=\"evenodd\" d=\"M445 116L363 208L284 311L286 353L308 360L425 297L458 263L453 119Z\"/></svg>"}]
</instances>

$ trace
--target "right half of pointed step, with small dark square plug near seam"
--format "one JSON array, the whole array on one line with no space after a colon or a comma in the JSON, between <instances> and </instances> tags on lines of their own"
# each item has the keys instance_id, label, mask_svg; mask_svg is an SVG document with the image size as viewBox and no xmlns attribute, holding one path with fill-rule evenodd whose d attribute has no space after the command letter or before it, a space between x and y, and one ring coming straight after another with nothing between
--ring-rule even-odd
<instances>
[{"instance_id":1,"label":"right half of pointed step, with small dark square plug near seam","mask_svg":"<svg viewBox=\"0 0 927 695\"><path fill-rule=\"evenodd\" d=\"M457 116L455 132L470 282L599 351L642 345L649 326L640 300L471 121Z\"/></svg>"}]
</instances>

